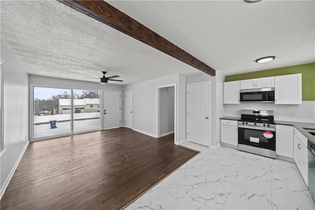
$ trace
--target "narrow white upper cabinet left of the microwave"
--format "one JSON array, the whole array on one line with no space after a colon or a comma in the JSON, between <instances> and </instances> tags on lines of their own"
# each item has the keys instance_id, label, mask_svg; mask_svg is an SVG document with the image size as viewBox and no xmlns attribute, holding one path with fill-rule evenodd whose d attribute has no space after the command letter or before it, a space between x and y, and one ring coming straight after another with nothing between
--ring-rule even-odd
<instances>
[{"instance_id":1,"label":"narrow white upper cabinet left of the microwave","mask_svg":"<svg viewBox=\"0 0 315 210\"><path fill-rule=\"evenodd\" d=\"M240 104L240 81L223 82L223 104Z\"/></svg>"}]
</instances>

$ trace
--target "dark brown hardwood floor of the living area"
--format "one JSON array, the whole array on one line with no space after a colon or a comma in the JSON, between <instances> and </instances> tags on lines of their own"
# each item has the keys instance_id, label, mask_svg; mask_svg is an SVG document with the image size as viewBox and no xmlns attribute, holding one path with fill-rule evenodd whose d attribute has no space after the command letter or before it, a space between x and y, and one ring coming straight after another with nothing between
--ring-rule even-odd
<instances>
[{"instance_id":1,"label":"dark brown hardwood floor of the living area","mask_svg":"<svg viewBox=\"0 0 315 210\"><path fill-rule=\"evenodd\" d=\"M121 209L198 152L127 128L31 142L6 209Z\"/></svg>"}]
</instances>

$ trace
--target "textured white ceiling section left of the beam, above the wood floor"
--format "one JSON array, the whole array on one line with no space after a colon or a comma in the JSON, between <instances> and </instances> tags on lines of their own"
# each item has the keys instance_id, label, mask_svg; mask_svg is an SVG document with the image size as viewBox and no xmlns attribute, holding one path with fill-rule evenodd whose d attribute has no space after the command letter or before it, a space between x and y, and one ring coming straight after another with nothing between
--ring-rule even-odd
<instances>
[{"instance_id":1,"label":"textured white ceiling section left of the beam, above the wood floor","mask_svg":"<svg viewBox=\"0 0 315 210\"><path fill-rule=\"evenodd\" d=\"M200 72L58 1L1 1L1 38L30 74L125 85Z\"/></svg>"}]
</instances>

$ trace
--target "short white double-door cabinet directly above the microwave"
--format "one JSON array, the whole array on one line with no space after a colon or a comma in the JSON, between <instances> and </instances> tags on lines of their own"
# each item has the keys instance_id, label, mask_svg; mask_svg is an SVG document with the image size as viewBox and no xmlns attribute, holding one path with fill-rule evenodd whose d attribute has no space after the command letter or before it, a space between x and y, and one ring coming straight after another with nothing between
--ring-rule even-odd
<instances>
[{"instance_id":1,"label":"short white double-door cabinet directly above the microwave","mask_svg":"<svg viewBox=\"0 0 315 210\"><path fill-rule=\"evenodd\" d=\"M257 79L245 79L240 81L240 89L269 88L275 87L275 77L263 77Z\"/></svg>"}]
</instances>

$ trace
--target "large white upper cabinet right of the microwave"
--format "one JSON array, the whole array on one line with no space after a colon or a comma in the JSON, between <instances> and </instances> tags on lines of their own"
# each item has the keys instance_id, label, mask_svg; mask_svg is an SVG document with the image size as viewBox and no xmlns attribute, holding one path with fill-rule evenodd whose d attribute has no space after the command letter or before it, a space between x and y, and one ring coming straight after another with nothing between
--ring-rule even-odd
<instances>
[{"instance_id":1,"label":"large white upper cabinet right of the microwave","mask_svg":"<svg viewBox=\"0 0 315 210\"><path fill-rule=\"evenodd\" d=\"M302 74L275 76L275 104L302 104Z\"/></svg>"}]
</instances>

